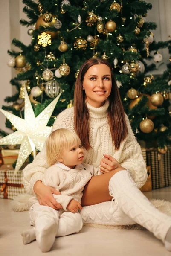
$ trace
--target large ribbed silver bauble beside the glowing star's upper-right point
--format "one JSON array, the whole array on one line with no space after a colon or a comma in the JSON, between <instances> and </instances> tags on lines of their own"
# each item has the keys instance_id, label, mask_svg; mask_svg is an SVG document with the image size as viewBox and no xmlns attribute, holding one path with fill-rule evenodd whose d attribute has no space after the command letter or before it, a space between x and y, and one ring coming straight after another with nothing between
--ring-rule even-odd
<instances>
[{"instance_id":1,"label":"large ribbed silver bauble beside the glowing star's upper-right point","mask_svg":"<svg viewBox=\"0 0 171 256\"><path fill-rule=\"evenodd\" d=\"M54 99L62 92L62 89L56 80L51 80L45 84L44 91L49 98Z\"/></svg>"}]
</instances>

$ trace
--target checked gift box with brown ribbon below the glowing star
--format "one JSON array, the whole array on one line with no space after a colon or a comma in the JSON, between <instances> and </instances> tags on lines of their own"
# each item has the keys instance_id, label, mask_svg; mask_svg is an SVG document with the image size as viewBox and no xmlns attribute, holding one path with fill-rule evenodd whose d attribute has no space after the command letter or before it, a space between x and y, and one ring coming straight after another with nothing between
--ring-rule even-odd
<instances>
[{"instance_id":1,"label":"checked gift box with brown ribbon below the glowing star","mask_svg":"<svg viewBox=\"0 0 171 256\"><path fill-rule=\"evenodd\" d=\"M0 167L0 198L13 199L18 194L25 193L23 187L23 172L14 175L12 165Z\"/></svg>"}]
</instances>

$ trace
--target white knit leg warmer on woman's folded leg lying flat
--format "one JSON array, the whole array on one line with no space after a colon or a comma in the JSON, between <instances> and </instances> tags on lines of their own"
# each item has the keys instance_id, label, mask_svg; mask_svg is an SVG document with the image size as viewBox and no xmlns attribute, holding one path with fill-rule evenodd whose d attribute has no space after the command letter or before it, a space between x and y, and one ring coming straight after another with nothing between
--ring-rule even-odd
<instances>
[{"instance_id":1,"label":"white knit leg warmer on woman's folded leg lying flat","mask_svg":"<svg viewBox=\"0 0 171 256\"><path fill-rule=\"evenodd\" d=\"M115 202L113 202L115 204ZM123 226L131 225L136 222L133 221L118 207L113 214L110 214L111 201L100 204L84 206L80 212L84 223Z\"/></svg>"}]
</instances>

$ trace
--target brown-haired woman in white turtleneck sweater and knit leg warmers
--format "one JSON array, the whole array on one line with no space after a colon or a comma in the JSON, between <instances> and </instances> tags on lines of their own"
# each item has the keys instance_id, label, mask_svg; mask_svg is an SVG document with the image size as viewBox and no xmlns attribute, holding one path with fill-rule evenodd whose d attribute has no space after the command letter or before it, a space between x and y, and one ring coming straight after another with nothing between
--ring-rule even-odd
<instances>
[{"instance_id":1,"label":"brown-haired woman in white turtleneck sweater and knit leg warmers","mask_svg":"<svg viewBox=\"0 0 171 256\"><path fill-rule=\"evenodd\" d=\"M147 179L145 161L107 61L92 58L81 66L74 108L58 115L52 131L58 128L77 133L85 148L84 162L100 165L103 172L84 189L82 205L87 207L81 211L83 221L110 225L139 223L171 250L171 218L159 212L138 189ZM46 145L23 170L24 186L27 192L37 195L41 205L59 209L61 205L52 196L59 192L42 183L49 167L45 152ZM112 202L107 202L111 199Z\"/></svg>"}]
</instances>

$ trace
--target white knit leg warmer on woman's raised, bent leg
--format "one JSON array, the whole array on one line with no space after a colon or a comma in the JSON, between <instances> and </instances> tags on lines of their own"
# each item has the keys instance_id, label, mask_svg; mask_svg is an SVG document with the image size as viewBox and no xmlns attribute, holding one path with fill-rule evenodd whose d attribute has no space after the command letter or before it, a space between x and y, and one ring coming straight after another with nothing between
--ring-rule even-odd
<instances>
[{"instance_id":1,"label":"white knit leg warmer on woman's raised, bent leg","mask_svg":"<svg viewBox=\"0 0 171 256\"><path fill-rule=\"evenodd\" d=\"M154 233L165 243L165 236L171 227L171 217L159 212L137 188L126 170L117 172L109 182L110 195L115 204L136 223Z\"/></svg>"}]
</instances>

